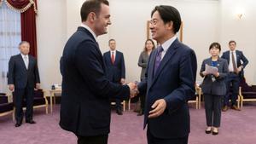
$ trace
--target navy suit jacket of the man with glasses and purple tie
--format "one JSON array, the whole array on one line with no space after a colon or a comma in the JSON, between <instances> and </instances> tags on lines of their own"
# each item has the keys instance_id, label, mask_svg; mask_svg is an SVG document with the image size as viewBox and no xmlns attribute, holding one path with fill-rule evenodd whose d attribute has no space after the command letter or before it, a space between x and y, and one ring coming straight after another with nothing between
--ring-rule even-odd
<instances>
[{"instance_id":1,"label":"navy suit jacket of the man with glasses and purple tie","mask_svg":"<svg viewBox=\"0 0 256 144\"><path fill-rule=\"evenodd\" d=\"M144 128L158 138L180 138L189 135L189 107L187 101L195 95L195 52L176 39L154 75L157 49L149 56L145 79L138 85L140 93L146 92ZM158 118L148 119L154 101L166 100L166 110Z\"/></svg>"}]
</instances>

